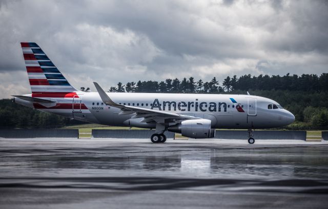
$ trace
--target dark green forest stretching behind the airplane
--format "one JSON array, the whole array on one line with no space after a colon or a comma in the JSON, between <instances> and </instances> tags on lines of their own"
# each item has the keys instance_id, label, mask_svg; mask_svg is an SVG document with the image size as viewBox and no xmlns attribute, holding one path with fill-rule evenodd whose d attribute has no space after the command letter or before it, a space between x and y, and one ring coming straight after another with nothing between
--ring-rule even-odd
<instances>
[{"instance_id":1,"label":"dark green forest stretching behind the airplane","mask_svg":"<svg viewBox=\"0 0 328 209\"><path fill-rule=\"evenodd\" d=\"M81 88L89 91L89 88ZM288 129L328 129L328 74L320 76L251 76L237 78L229 76L219 82L195 81L194 78L166 79L165 81L128 82L109 89L111 92L163 92L195 94L246 94L267 97L277 101L295 115L296 122ZM55 114L33 110L13 103L10 99L0 100L0 127L63 127L82 122L70 120Z\"/></svg>"}]
</instances>

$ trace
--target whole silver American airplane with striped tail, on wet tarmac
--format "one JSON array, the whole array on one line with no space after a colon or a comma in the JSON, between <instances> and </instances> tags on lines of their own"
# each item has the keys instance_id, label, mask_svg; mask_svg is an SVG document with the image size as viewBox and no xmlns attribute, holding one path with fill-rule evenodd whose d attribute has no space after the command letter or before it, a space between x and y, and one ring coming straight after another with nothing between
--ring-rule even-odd
<instances>
[{"instance_id":1,"label":"whole silver American airplane with striped tail, on wet tarmac","mask_svg":"<svg viewBox=\"0 0 328 209\"><path fill-rule=\"evenodd\" d=\"M16 95L14 102L78 121L109 126L155 129L153 143L166 142L165 131L190 138L212 138L216 129L255 129L294 122L294 115L277 102L253 95L159 94L97 92L74 88L34 42L20 43L32 94Z\"/></svg>"}]
</instances>

